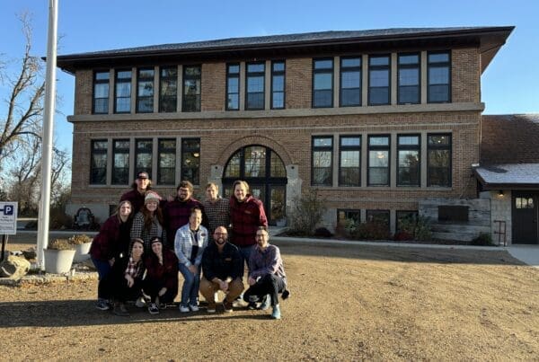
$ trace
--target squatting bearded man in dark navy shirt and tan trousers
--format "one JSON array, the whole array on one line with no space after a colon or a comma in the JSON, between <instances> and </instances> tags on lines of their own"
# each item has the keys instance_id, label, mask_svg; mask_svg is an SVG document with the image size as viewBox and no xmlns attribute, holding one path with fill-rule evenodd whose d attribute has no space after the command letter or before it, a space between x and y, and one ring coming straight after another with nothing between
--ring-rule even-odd
<instances>
[{"instance_id":1,"label":"squatting bearded man in dark navy shirt and tan trousers","mask_svg":"<svg viewBox=\"0 0 539 362\"><path fill-rule=\"evenodd\" d=\"M225 293L223 307L232 312L232 303L243 292L243 259L233 244L228 243L225 226L217 226L210 243L202 254L200 293L208 301L208 313L216 312L216 292Z\"/></svg>"}]
</instances>

